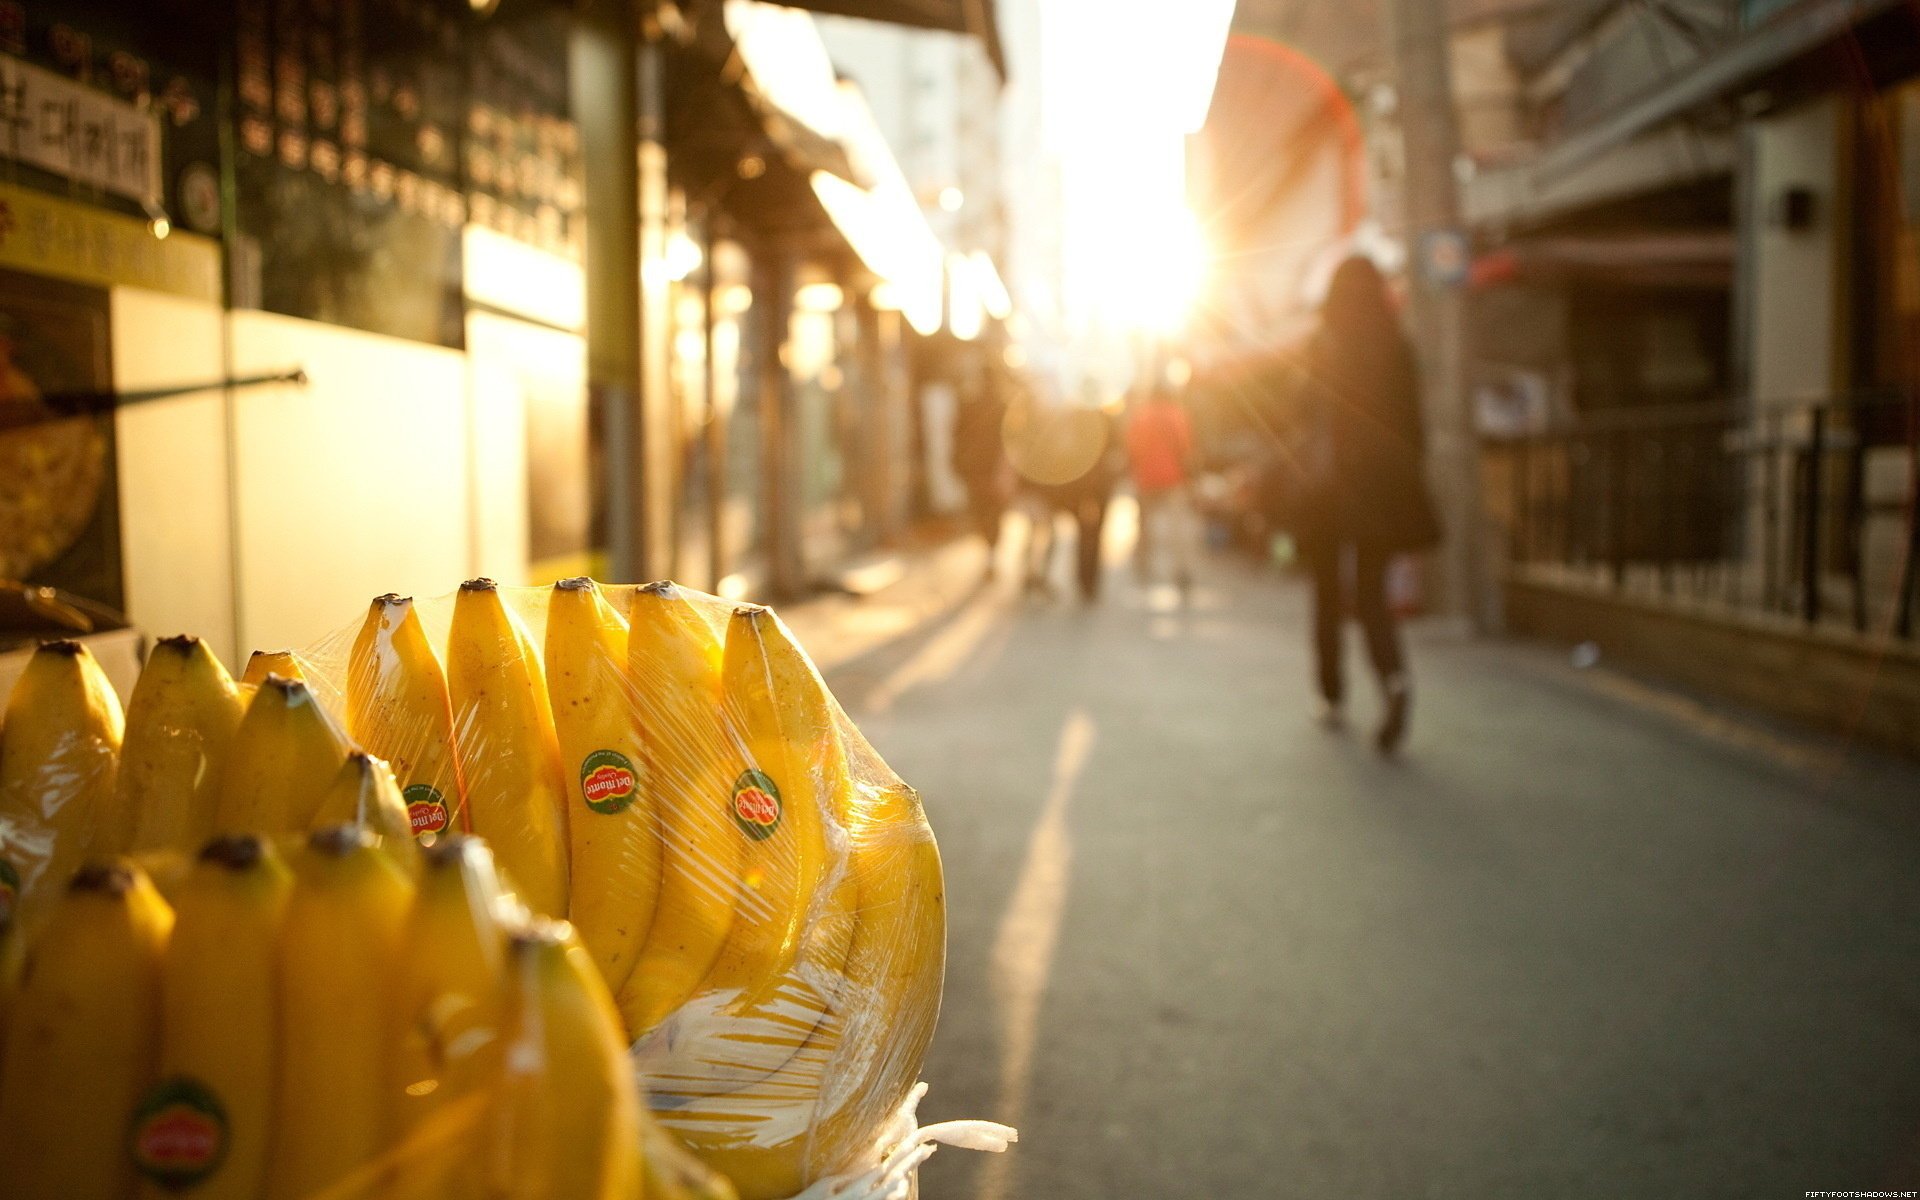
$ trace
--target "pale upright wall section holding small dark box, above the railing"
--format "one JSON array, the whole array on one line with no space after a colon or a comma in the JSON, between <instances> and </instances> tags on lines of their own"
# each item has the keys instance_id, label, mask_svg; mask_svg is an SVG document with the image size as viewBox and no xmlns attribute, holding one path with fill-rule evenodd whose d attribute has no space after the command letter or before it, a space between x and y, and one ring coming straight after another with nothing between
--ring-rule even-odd
<instances>
[{"instance_id":1,"label":"pale upright wall section holding small dark box, above the railing","mask_svg":"<svg viewBox=\"0 0 1920 1200\"><path fill-rule=\"evenodd\" d=\"M1764 403L1818 399L1834 390L1839 334L1839 102L1832 96L1753 123L1753 230L1747 275L1753 311L1753 396ZM1776 225L1789 186L1812 192L1812 225Z\"/></svg>"}]
</instances>

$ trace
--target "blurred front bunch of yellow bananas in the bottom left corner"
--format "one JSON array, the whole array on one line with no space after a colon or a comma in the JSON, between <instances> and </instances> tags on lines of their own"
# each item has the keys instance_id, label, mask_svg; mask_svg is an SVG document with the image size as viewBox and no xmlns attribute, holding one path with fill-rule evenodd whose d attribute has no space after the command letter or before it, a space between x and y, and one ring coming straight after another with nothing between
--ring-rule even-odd
<instances>
[{"instance_id":1,"label":"blurred front bunch of yellow bananas in the bottom left corner","mask_svg":"<svg viewBox=\"0 0 1920 1200\"><path fill-rule=\"evenodd\" d=\"M165 895L86 862L6 996L8 1194L732 1196L653 1127L570 927L480 839L386 841L221 835Z\"/></svg>"}]
</instances>

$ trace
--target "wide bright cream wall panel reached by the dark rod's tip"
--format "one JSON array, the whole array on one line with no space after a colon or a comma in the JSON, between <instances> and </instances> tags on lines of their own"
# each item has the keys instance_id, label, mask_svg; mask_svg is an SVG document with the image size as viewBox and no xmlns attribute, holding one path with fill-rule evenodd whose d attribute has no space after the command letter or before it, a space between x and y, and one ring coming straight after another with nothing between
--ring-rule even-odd
<instances>
[{"instance_id":1,"label":"wide bright cream wall panel reached by the dark rod's tip","mask_svg":"<svg viewBox=\"0 0 1920 1200\"><path fill-rule=\"evenodd\" d=\"M467 578L465 355L238 311L232 371L305 367L305 388L234 394L240 649L305 645L382 591Z\"/></svg>"}]
</instances>

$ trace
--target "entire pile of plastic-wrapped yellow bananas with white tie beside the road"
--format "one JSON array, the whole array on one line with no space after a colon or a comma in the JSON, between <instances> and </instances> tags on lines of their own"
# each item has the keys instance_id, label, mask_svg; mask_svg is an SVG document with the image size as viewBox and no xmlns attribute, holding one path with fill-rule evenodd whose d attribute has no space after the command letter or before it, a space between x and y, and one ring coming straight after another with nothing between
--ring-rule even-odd
<instances>
[{"instance_id":1,"label":"entire pile of plastic-wrapped yellow bananas with white tie beside the road","mask_svg":"<svg viewBox=\"0 0 1920 1200\"><path fill-rule=\"evenodd\" d=\"M470 580L232 680L81 643L0 724L21 1200L900 1198L939 851L787 626Z\"/></svg>"}]
</instances>

